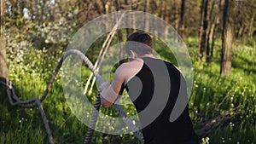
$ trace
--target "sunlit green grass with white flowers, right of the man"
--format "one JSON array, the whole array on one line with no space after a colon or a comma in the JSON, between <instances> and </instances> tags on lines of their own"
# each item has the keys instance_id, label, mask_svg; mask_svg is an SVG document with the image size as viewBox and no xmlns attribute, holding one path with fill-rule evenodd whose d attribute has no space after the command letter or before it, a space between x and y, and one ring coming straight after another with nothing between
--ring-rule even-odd
<instances>
[{"instance_id":1,"label":"sunlit green grass with white flowers, right of the man","mask_svg":"<svg viewBox=\"0 0 256 144\"><path fill-rule=\"evenodd\" d=\"M192 53L193 54L193 53ZM208 135L210 143L255 143L256 138L256 54L254 47L233 47L230 76L219 75L220 43L210 64L194 61L195 81L190 97L191 117L201 123L218 113L240 107L227 126ZM193 57L193 55L192 55Z\"/></svg>"}]
</instances>

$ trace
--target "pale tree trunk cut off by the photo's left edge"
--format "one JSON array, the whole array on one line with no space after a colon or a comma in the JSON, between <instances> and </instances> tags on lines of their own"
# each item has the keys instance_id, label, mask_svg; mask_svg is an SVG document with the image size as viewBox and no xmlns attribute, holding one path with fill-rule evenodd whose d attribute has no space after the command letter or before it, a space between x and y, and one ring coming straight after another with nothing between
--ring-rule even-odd
<instances>
[{"instance_id":1,"label":"pale tree trunk cut off by the photo's left edge","mask_svg":"<svg viewBox=\"0 0 256 144\"><path fill-rule=\"evenodd\" d=\"M1 24L0 24L0 81L3 83L8 83L9 74L8 74L8 65L6 57L6 47L5 47L5 37L4 37L4 26L3 26L3 15L4 15L4 1L1 0Z\"/></svg>"}]
</instances>

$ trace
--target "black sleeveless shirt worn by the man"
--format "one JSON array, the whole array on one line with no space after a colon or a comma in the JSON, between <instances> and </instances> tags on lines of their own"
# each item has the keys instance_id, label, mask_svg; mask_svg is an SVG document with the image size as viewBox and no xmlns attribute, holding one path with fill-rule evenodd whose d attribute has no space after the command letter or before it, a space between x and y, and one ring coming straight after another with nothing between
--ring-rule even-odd
<instances>
[{"instance_id":1,"label":"black sleeveless shirt worn by the man","mask_svg":"<svg viewBox=\"0 0 256 144\"><path fill-rule=\"evenodd\" d=\"M170 121L177 96L188 97L186 85L181 84L183 74L163 60L145 57L143 61L142 69L125 89L137 109L145 144L197 144L188 104L175 121Z\"/></svg>"}]
</instances>

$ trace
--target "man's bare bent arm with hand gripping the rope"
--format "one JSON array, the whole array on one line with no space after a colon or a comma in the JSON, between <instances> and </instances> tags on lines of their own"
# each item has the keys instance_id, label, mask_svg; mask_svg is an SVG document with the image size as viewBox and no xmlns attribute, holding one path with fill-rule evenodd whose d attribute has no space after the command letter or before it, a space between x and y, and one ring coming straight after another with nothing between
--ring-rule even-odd
<instances>
[{"instance_id":1,"label":"man's bare bent arm with hand gripping the rope","mask_svg":"<svg viewBox=\"0 0 256 144\"><path fill-rule=\"evenodd\" d=\"M119 91L122 84L125 82L124 66L119 68L114 73L112 84L103 84L101 87L101 101L103 107L111 107L119 96Z\"/></svg>"}]
</instances>

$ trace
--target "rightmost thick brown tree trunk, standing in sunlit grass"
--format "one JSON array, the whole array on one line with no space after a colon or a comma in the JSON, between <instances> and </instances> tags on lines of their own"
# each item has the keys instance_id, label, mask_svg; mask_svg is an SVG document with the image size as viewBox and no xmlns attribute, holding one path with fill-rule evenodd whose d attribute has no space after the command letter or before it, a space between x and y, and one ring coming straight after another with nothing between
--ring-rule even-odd
<instances>
[{"instance_id":1,"label":"rightmost thick brown tree trunk, standing in sunlit grass","mask_svg":"<svg viewBox=\"0 0 256 144\"><path fill-rule=\"evenodd\" d=\"M229 0L224 0L223 31L222 31L222 54L220 73L230 75L232 58L232 28L228 17Z\"/></svg>"}]
</instances>

